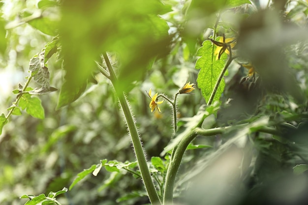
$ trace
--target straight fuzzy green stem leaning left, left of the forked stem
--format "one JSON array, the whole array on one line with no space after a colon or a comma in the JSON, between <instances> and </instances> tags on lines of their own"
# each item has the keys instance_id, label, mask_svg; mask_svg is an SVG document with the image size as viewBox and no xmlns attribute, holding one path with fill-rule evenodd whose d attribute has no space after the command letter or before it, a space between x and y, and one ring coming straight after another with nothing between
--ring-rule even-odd
<instances>
[{"instance_id":1,"label":"straight fuzzy green stem leaning left, left of the forked stem","mask_svg":"<svg viewBox=\"0 0 308 205\"><path fill-rule=\"evenodd\" d=\"M137 158L138 166L140 169L141 177L143 179L143 183L145 185L149 199L152 205L161 205L159 197L155 189L155 186L154 186L154 183L153 183L153 180L152 180L152 177L151 177L151 174L150 174L150 171L149 171L149 168L148 168L147 160L146 160L145 153L144 153L144 150L143 150L140 138L139 138L136 124L132 116L132 112L130 111L130 108L128 106L128 102L124 96L124 93L122 91L119 91L117 77L115 75L113 67L106 53L103 53L103 58L105 59L107 69L110 74L111 83L113 84L115 88L116 94L119 98L119 101L120 101L120 104L123 110L123 114L126 120L128 131L131 137L132 145L136 153L136 158Z\"/></svg>"}]
</instances>

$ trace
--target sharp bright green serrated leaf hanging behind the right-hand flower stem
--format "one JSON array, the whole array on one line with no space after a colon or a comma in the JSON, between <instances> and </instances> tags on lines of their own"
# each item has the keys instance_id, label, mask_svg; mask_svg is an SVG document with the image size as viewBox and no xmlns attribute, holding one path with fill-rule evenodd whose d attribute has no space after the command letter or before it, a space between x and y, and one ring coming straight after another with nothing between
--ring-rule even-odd
<instances>
[{"instance_id":1,"label":"sharp bright green serrated leaf hanging behind the right-hand flower stem","mask_svg":"<svg viewBox=\"0 0 308 205\"><path fill-rule=\"evenodd\" d=\"M195 68L200 69L197 84L198 88L201 89L201 93L208 102L211 93L215 87L216 81L224 67L225 60L227 59L227 55L224 53L221 55L220 60L216 60L213 51L217 48L214 46L210 40L206 40L203 42L202 47L199 48L197 52L197 56L200 56L196 62ZM225 75L228 75L228 72L225 72ZM222 79L219 87L216 91L216 95L214 97L214 101L219 100L221 93L223 92L223 88L225 86L225 82Z\"/></svg>"}]
</instances>

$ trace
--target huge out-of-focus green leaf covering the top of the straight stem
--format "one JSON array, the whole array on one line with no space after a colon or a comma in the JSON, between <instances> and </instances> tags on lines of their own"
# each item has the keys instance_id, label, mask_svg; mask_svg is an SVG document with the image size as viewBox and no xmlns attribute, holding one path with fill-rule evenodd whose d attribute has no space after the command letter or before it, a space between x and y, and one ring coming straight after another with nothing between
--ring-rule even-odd
<instances>
[{"instance_id":1,"label":"huge out-of-focus green leaf covering the top of the straight stem","mask_svg":"<svg viewBox=\"0 0 308 205\"><path fill-rule=\"evenodd\" d=\"M168 52L169 28L158 16L168 11L158 0L63 1L60 32L67 83L58 107L78 98L76 90L86 84L96 69L94 60L104 51L119 56L120 88L140 80L147 65Z\"/></svg>"}]
</instances>

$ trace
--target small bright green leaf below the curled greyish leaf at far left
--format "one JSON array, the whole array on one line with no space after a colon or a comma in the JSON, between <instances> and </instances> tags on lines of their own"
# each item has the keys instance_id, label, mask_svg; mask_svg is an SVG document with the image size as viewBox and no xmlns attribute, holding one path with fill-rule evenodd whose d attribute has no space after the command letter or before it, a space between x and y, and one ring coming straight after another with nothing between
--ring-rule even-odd
<instances>
[{"instance_id":1,"label":"small bright green leaf below the curled greyish leaf at far left","mask_svg":"<svg viewBox=\"0 0 308 205\"><path fill-rule=\"evenodd\" d=\"M44 119L45 113L42 107L41 100L37 97L32 96L29 93L24 93L19 100L19 107L32 117Z\"/></svg>"}]
</instances>

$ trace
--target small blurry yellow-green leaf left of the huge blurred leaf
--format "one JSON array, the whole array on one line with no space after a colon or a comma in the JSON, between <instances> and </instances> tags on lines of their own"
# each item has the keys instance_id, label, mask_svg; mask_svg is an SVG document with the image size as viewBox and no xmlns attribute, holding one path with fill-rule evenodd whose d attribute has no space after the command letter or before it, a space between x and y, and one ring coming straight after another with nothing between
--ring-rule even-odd
<instances>
[{"instance_id":1,"label":"small blurry yellow-green leaf left of the huge blurred leaf","mask_svg":"<svg viewBox=\"0 0 308 205\"><path fill-rule=\"evenodd\" d=\"M31 14L27 11L23 13L24 17L30 17L31 15L34 14ZM32 20L27 21L27 23L34 29L38 29L47 35L56 36L58 34L58 22L49 17L40 16L38 18L33 18Z\"/></svg>"}]
</instances>

